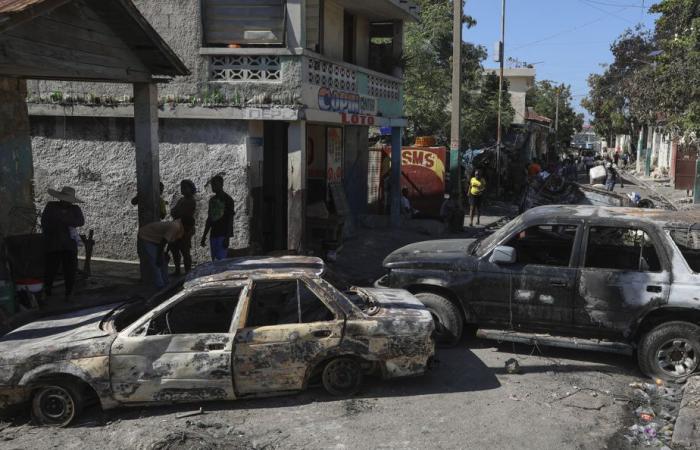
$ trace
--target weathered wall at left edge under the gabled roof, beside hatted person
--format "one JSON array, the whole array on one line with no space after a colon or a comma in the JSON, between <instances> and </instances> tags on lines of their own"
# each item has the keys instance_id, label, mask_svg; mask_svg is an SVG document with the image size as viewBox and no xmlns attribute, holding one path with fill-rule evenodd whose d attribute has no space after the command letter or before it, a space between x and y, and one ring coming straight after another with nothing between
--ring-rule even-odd
<instances>
[{"instance_id":1,"label":"weathered wall at left edge under the gabled roof, beside hatted person","mask_svg":"<svg viewBox=\"0 0 700 450\"><path fill-rule=\"evenodd\" d=\"M0 78L0 236L34 227L32 147L26 84Z\"/></svg>"}]
</instances>

